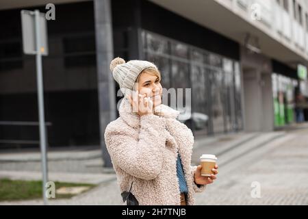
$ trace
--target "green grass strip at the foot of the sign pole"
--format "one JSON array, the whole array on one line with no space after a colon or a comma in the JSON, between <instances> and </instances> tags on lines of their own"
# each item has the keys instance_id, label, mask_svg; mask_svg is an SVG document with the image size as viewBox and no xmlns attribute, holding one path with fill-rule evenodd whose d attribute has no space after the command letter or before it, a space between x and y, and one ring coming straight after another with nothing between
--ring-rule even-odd
<instances>
[{"instance_id":1,"label":"green grass strip at the foot of the sign pole","mask_svg":"<svg viewBox=\"0 0 308 219\"><path fill-rule=\"evenodd\" d=\"M86 183L63 183L55 181L55 190L61 187L88 186L89 190L94 188L93 184ZM88 190L87 190L88 191ZM72 194L57 194L55 198L70 198ZM0 179L0 201L18 201L42 198L42 181L23 181Z\"/></svg>"}]
</instances>

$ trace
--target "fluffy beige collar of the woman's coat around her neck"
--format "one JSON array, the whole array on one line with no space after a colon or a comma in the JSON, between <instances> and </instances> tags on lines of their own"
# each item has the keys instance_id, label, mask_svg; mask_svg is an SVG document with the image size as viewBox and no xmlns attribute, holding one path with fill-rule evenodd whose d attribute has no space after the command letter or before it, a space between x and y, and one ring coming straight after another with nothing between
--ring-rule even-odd
<instances>
[{"instance_id":1,"label":"fluffy beige collar of the woman's coat around her neck","mask_svg":"<svg viewBox=\"0 0 308 219\"><path fill-rule=\"evenodd\" d=\"M139 127L140 116L132 112L131 103L124 97L120 103L119 114L125 122L131 127ZM161 104L155 107L155 115L162 116L164 118L177 118L179 111L173 110L168 105Z\"/></svg>"}]
</instances>

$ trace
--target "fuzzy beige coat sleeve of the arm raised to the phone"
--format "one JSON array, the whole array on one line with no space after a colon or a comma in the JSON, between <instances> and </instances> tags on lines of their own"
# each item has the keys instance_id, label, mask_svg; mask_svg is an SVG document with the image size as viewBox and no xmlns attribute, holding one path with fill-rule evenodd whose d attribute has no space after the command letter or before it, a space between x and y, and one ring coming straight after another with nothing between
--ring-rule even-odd
<instances>
[{"instance_id":1,"label":"fuzzy beige coat sleeve of the arm raised to the phone","mask_svg":"<svg viewBox=\"0 0 308 219\"><path fill-rule=\"evenodd\" d=\"M155 179L162 170L166 120L153 114L140 116L139 140L119 123L108 125L105 143L112 162L129 175Z\"/></svg>"}]
</instances>

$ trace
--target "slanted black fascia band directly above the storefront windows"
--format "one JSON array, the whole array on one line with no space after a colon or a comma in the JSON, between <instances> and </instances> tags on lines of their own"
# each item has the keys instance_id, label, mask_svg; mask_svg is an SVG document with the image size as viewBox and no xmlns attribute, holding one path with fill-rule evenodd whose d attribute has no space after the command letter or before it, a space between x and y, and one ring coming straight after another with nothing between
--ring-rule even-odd
<instances>
[{"instance_id":1,"label":"slanted black fascia band directly above the storefront windows","mask_svg":"<svg viewBox=\"0 0 308 219\"><path fill-rule=\"evenodd\" d=\"M140 5L142 28L234 60L240 59L237 42L165 10L150 1L141 1Z\"/></svg>"}]
</instances>

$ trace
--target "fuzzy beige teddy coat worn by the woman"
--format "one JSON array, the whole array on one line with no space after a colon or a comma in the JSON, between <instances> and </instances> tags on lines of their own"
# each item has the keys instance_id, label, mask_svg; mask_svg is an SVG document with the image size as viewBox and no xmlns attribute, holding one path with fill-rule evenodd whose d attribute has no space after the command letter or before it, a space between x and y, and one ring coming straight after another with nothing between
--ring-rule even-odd
<instances>
[{"instance_id":1,"label":"fuzzy beige teddy coat worn by the woman","mask_svg":"<svg viewBox=\"0 0 308 219\"><path fill-rule=\"evenodd\" d=\"M162 105L160 116L138 116L123 99L120 117L107 125L105 143L120 186L120 192L131 192L140 205L180 205L177 178L177 152L181 156L188 185L188 205L194 205L194 193L202 192L194 183L190 166L194 136L176 118L179 112Z\"/></svg>"}]
</instances>

